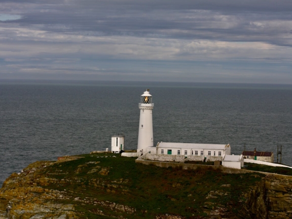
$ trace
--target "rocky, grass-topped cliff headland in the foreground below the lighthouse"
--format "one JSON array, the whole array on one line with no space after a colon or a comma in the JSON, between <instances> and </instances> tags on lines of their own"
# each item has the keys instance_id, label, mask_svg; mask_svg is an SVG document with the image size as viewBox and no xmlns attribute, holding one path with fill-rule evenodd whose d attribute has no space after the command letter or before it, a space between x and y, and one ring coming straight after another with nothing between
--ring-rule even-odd
<instances>
[{"instance_id":1,"label":"rocky, grass-topped cliff headland in the foreground below the lighthouse","mask_svg":"<svg viewBox=\"0 0 292 219\"><path fill-rule=\"evenodd\" d=\"M39 161L0 190L0 219L289 219L292 177L135 163L113 154Z\"/></svg>"}]
</instances>

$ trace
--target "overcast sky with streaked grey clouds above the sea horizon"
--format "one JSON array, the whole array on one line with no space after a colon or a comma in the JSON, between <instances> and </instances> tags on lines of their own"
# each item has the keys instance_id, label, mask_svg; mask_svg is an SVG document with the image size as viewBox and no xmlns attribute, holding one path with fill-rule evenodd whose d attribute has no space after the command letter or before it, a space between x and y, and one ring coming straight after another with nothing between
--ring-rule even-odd
<instances>
[{"instance_id":1,"label":"overcast sky with streaked grey clouds above the sea horizon","mask_svg":"<svg viewBox=\"0 0 292 219\"><path fill-rule=\"evenodd\" d=\"M0 0L0 79L292 84L292 0Z\"/></svg>"}]
</instances>

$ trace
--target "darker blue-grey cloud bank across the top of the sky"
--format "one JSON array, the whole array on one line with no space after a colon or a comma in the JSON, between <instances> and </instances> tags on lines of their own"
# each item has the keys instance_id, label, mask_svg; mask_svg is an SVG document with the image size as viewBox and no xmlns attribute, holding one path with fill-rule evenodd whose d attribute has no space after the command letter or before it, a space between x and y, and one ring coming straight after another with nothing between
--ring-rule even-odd
<instances>
[{"instance_id":1,"label":"darker blue-grey cloud bank across the top of the sky","mask_svg":"<svg viewBox=\"0 0 292 219\"><path fill-rule=\"evenodd\" d=\"M275 5L266 1L250 4L249 0L40 2L19 3L29 4L30 10L21 11L18 5L23 18L5 23L71 35L266 41L291 45L292 17L287 9L292 3L285 0ZM269 8L274 10L272 14L266 12Z\"/></svg>"}]
</instances>

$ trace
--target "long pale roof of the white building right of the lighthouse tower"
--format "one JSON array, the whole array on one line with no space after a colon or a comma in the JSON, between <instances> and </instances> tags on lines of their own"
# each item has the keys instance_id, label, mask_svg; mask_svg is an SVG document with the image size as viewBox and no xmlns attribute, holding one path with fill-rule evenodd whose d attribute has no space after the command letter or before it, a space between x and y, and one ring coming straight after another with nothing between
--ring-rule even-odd
<instances>
[{"instance_id":1,"label":"long pale roof of the white building right of the lighthouse tower","mask_svg":"<svg viewBox=\"0 0 292 219\"><path fill-rule=\"evenodd\" d=\"M169 148L190 148L190 149L225 149L230 145L215 145L215 144L193 144L193 143L171 143L171 142L160 142L158 147L169 147Z\"/></svg>"}]
</instances>

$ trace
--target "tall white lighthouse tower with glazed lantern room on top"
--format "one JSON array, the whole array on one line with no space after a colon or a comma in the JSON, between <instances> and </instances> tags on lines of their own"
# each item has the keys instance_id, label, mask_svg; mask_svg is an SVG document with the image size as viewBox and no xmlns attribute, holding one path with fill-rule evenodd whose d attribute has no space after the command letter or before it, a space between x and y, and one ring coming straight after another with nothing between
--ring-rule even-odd
<instances>
[{"instance_id":1,"label":"tall white lighthouse tower with glazed lantern room on top","mask_svg":"<svg viewBox=\"0 0 292 219\"><path fill-rule=\"evenodd\" d=\"M152 125L152 95L149 94L147 89L141 95L139 103L140 109L140 122L139 122L139 135L138 135L138 148L137 152L142 150L146 152L146 148L153 146L153 125Z\"/></svg>"}]
</instances>

